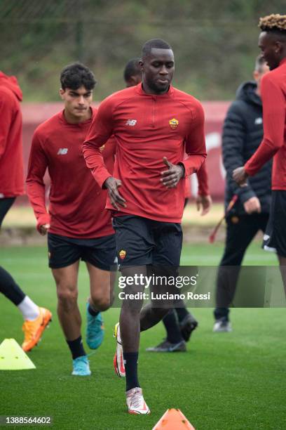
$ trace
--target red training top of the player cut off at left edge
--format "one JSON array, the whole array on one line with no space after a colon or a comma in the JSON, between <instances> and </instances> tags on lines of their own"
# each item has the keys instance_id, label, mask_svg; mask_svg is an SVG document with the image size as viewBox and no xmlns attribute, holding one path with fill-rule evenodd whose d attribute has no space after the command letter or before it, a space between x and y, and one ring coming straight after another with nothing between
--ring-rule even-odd
<instances>
[{"instance_id":1,"label":"red training top of the player cut off at left edge","mask_svg":"<svg viewBox=\"0 0 286 430\"><path fill-rule=\"evenodd\" d=\"M20 101L17 79L0 72L0 199L24 193Z\"/></svg>"}]
</instances>

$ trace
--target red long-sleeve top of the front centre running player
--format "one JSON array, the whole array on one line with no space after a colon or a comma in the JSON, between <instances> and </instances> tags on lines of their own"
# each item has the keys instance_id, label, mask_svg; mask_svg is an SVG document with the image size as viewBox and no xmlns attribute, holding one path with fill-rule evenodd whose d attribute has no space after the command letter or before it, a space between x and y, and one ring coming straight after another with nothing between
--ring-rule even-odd
<instances>
[{"instance_id":1,"label":"red long-sleeve top of the front centre running player","mask_svg":"<svg viewBox=\"0 0 286 430\"><path fill-rule=\"evenodd\" d=\"M111 176L100 147L114 134L114 177L127 207L116 214L133 214L165 222L181 222L184 180L176 188L161 183L167 169L163 157L182 162L186 176L200 169L206 157L203 107L196 98L172 86L163 95L147 94L142 84L118 91L100 105L83 144L86 164L102 186ZM188 155L184 159L184 152ZM109 197L107 209L114 210Z\"/></svg>"}]
</instances>

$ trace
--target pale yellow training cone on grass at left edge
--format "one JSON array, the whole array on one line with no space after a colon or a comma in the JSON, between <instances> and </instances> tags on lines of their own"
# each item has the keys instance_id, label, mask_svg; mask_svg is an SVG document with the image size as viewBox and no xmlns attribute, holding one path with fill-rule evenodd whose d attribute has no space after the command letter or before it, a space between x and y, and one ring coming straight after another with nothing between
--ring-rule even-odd
<instances>
[{"instance_id":1,"label":"pale yellow training cone on grass at left edge","mask_svg":"<svg viewBox=\"0 0 286 430\"><path fill-rule=\"evenodd\" d=\"M0 370L36 369L15 339L4 339L0 345Z\"/></svg>"}]
</instances>

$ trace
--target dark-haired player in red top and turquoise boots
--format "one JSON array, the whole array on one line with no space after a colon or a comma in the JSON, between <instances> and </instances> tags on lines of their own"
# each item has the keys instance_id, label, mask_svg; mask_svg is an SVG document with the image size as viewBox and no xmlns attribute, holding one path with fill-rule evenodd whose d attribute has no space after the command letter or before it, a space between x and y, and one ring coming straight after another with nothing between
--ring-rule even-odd
<instances>
[{"instance_id":1,"label":"dark-haired player in red top and turquoise boots","mask_svg":"<svg viewBox=\"0 0 286 430\"><path fill-rule=\"evenodd\" d=\"M95 77L88 67L74 63L62 70L60 82L64 110L34 132L27 191L37 228L42 235L48 233L49 266L57 285L57 313L73 358L72 374L85 376L90 369L77 305L79 261L86 261L90 277L86 341L95 349L103 339L100 311L110 306L116 245L110 212L104 209L107 191L95 183L81 152L96 115L90 107ZM114 164L111 146L101 148L110 172ZM46 169L50 174L48 211L43 183Z\"/></svg>"}]
</instances>

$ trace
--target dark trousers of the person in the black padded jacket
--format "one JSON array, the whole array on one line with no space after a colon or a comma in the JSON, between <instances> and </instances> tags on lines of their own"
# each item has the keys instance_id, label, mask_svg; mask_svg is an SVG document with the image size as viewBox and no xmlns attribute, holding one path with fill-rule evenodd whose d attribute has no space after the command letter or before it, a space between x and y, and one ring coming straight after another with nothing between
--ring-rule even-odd
<instances>
[{"instance_id":1,"label":"dark trousers of the person in the black padded jacket","mask_svg":"<svg viewBox=\"0 0 286 430\"><path fill-rule=\"evenodd\" d=\"M226 219L226 245L217 273L217 307L214 310L216 320L219 318L229 320L229 305L236 294L240 265L245 251L259 230L265 232L268 217L269 214L245 214Z\"/></svg>"}]
</instances>

